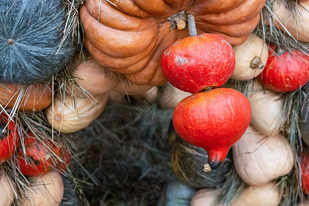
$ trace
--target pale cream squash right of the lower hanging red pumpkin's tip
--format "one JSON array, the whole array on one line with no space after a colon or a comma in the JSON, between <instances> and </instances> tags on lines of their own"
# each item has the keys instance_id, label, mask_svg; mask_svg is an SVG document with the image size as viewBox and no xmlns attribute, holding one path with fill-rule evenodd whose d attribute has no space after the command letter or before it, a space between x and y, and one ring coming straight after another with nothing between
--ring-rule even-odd
<instances>
[{"instance_id":1,"label":"pale cream squash right of the lower hanging red pumpkin's tip","mask_svg":"<svg viewBox=\"0 0 309 206\"><path fill-rule=\"evenodd\" d=\"M288 174L294 165L294 155L282 135L262 135L249 126L233 146L233 161L244 182L263 185Z\"/></svg>"}]
</instances>

